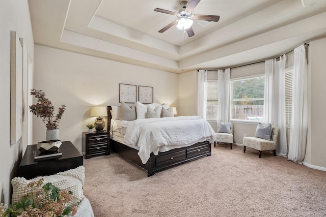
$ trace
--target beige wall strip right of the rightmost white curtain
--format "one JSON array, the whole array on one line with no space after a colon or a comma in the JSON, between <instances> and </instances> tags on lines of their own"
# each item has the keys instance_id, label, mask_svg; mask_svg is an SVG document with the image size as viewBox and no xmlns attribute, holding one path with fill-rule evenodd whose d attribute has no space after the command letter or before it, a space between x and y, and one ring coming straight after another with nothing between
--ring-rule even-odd
<instances>
[{"instance_id":1,"label":"beige wall strip right of the rightmost white curtain","mask_svg":"<svg viewBox=\"0 0 326 217\"><path fill-rule=\"evenodd\" d=\"M313 40L308 49L308 138L305 163L326 170L325 106L326 38Z\"/></svg>"}]
</instances>

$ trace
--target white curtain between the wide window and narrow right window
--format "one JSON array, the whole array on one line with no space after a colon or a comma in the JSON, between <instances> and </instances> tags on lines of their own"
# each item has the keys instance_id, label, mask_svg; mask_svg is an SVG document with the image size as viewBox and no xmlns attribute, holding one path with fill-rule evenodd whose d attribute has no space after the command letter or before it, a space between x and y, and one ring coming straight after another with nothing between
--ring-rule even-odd
<instances>
[{"instance_id":1,"label":"white curtain between the wide window and narrow right window","mask_svg":"<svg viewBox=\"0 0 326 217\"><path fill-rule=\"evenodd\" d=\"M285 62L286 56L280 60L265 61L265 95L263 122L279 128L276 153L286 157L286 122L285 122Z\"/></svg>"}]
</instances>

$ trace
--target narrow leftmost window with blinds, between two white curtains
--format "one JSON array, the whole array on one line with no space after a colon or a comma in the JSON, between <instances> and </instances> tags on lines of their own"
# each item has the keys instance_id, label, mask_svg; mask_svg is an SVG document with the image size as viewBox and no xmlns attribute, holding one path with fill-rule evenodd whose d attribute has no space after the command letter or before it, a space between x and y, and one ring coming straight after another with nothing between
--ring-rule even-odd
<instances>
[{"instance_id":1,"label":"narrow leftmost window with blinds, between two white curtains","mask_svg":"<svg viewBox=\"0 0 326 217\"><path fill-rule=\"evenodd\" d=\"M206 119L216 119L218 114L219 82L207 80Z\"/></svg>"}]
</instances>

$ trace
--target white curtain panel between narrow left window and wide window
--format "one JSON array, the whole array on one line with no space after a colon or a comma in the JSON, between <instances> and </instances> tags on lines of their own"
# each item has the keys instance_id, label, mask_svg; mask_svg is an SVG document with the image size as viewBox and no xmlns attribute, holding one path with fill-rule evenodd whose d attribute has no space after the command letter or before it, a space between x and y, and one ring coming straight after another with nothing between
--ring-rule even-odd
<instances>
[{"instance_id":1,"label":"white curtain panel between narrow left window and wide window","mask_svg":"<svg viewBox=\"0 0 326 217\"><path fill-rule=\"evenodd\" d=\"M227 122L229 120L230 103L230 69L218 70L219 79L219 103L218 103L218 124L219 121Z\"/></svg>"}]
</instances>

